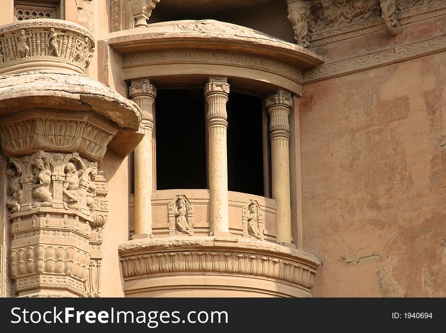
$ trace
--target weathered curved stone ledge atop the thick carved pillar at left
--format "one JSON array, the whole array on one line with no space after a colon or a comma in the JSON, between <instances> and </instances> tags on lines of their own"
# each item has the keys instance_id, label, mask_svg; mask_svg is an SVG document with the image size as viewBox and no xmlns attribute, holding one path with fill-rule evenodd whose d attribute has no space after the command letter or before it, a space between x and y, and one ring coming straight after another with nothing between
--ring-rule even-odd
<instances>
[{"instance_id":1,"label":"weathered curved stone ledge atop the thick carved pillar at left","mask_svg":"<svg viewBox=\"0 0 446 333\"><path fill-rule=\"evenodd\" d=\"M39 70L0 76L0 118L32 109L92 112L115 123L107 147L121 156L142 137L139 106L86 75Z\"/></svg>"}]
</instances>

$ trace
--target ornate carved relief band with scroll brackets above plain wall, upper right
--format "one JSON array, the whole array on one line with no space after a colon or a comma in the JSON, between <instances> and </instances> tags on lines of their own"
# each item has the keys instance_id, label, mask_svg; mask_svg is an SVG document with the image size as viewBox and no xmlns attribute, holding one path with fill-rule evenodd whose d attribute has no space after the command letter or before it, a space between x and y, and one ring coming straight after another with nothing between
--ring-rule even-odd
<instances>
[{"instance_id":1,"label":"ornate carved relief band with scroll brackets above plain wall, upper right","mask_svg":"<svg viewBox=\"0 0 446 333\"><path fill-rule=\"evenodd\" d=\"M308 35L382 17L390 33L401 31L398 11L439 0L287 0L288 19L297 44L311 48Z\"/></svg>"}]
</instances>

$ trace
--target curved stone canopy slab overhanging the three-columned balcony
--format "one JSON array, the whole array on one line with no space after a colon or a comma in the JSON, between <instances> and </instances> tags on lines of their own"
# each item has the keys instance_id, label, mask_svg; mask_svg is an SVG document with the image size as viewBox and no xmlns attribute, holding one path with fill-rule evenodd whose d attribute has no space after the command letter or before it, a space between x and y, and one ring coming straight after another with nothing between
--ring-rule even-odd
<instances>
[{"instance_id":1,"label":"curved stone canopy slab overhanging the three-columned balcony","mask_svg":"<svg viewBox=\"0 0 446 333\"><path fill-rule=\"evenodd\" d=\"M160 49L212 49L246 52L285 61L300 68L324 62L303 47L263 32L216 20L181 20L113 32L108 44L120 53Z\"/></svg>"}]
</instances>

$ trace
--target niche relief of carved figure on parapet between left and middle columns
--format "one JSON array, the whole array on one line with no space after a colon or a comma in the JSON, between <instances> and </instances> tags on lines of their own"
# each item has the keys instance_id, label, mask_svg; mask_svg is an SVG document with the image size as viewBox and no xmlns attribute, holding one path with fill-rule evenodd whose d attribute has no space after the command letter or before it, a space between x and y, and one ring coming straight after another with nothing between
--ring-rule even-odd
<instances>
[{"instance_id":1,"label":"niche relief of carved figure on parapet between left and middle columns","mask_svg":"<svg viewBox=\"0 0 446 333\"><path fill-rule=\"evenodd\" d=\"M184 196L178 195L168 207L169 234L194 234L194 208Z\"/></svg>"}]
</instances>

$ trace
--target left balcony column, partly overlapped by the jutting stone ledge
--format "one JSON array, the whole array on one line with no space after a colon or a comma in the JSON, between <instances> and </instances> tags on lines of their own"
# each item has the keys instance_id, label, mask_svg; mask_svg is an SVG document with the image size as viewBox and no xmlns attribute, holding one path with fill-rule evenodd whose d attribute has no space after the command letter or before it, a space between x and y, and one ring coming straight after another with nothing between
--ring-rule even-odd
<instances>
[{"instance_id":1,"label":"left balcony column, partly overlapped by the jutting stone ledge","mask_svg":"<svg viewBox=\"0 0 446 333\"><path fill-rule=\"evenodd\" d=\"M135 149L135 238L152 238L153 130L156 88L148 81L132 81L130 96L142 111L144 137ZM138 235L138 236L137 236Z\"/></svg>"}]
</instances>

